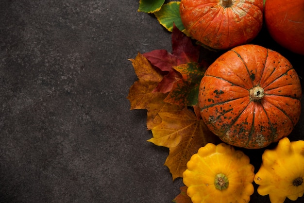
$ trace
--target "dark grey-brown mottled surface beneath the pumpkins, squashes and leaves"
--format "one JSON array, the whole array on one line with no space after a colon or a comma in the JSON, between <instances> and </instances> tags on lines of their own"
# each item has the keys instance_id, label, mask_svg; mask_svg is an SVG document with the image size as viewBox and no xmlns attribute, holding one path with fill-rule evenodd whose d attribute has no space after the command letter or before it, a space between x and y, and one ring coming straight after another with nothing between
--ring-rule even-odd
<instances>
[{"instance_id":1,"label":"dark grey-brown mottled surface beneath the pumpkins, squashes and leaves","mask_svg":"<svg viewBox=\"0 0 304 203\"><path fill-rule=\"evenodd\" d=\"M182 180L163 166L168 149L146 141L146 112L126 99L136 80L128 59L171 50L170 34L137 8L138 0L0 0L1 203L169 203L179 194ZM301 56L265 31L254 42L303 77ZM304 138L303 123L290 139ZM262 150L246 152L260 162ZM255 192L251 202L270 201Z\"/></svg>"}]
</instances>

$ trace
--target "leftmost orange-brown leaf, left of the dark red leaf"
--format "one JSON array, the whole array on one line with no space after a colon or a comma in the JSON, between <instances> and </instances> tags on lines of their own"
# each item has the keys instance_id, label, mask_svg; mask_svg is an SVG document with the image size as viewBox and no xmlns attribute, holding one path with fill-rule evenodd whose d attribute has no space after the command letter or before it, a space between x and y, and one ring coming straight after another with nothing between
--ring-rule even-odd
<instances>
[{"instance_id":1,"label":"leftmost orange-brown leaf, left of the dark red leaf","mask_svg":"<svg viewBox=\"0 0 304 203\"><path fill-rule=\"evenodd\" d=\"M130 59L138 80L130 87L129 99L131 109L150 109L153 103L161 103L166 94L152 93L153 89L163 79L163 76L152 67L151 63L140 53L135 59Z\"/></svg>"}]
</instances>

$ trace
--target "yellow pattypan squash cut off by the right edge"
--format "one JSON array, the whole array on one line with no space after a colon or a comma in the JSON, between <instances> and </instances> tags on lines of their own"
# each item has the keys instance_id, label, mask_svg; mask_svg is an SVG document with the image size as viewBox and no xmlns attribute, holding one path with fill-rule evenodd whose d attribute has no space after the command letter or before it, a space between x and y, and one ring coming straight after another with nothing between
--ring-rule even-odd
<instances>
[{"instance_id":1,"label":"yellow pattypan squash cut off by the right edge","mask_svg":"<svg viewBox=\"0 0 304 203\"><path fill-rule=\"evenodd\" d=\"M271 203L296 200L304 193L304 141L281 139L273 150L265 150L262 165L255 174L260 195L269 194Z\"/></svg>"}]
</instances>

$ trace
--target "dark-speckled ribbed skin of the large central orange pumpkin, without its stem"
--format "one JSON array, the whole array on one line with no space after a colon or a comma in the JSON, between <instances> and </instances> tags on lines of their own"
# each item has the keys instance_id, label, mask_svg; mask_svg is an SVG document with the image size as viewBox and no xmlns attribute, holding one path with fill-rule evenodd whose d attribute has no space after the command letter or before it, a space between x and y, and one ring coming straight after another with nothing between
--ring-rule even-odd
<instances>
[{"instance_id":1,"label":"dark-speckled ribbed skin of the large central orange pumpkin, without its stem","mask_svg":"<svg viewBox=\"0 0 304 203\"><path fill-rule=\"evenodd\" d=\"M257 86L264 97L254 101L250 93ZM222 141L259 149L290 134L300 118L301 94L299 77L286 58L261 46L242 45L206 70L199 105L203 121Z\"/></svg>"}]
</instances>

